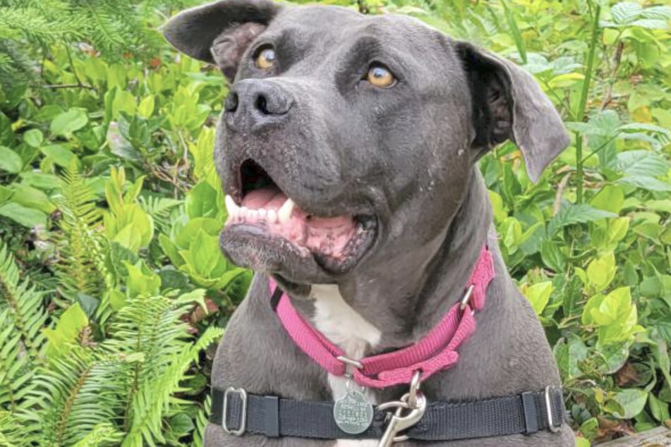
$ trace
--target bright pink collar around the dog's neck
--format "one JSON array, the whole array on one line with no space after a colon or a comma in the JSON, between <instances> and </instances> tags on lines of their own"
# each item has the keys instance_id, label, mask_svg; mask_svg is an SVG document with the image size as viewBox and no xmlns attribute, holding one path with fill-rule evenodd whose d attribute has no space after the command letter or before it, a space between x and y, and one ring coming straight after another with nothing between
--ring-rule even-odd
<instances>
[{"instance_id":1,"label":"bright pink collar around the dog's neck","mask_svg":"<svg viewBox=\"0 0 671 447\"><path fill-rule=\"evenodd\" d=\"M424 338L406 348L359 360L348 359L343 350L308 324L272 278L270 292L272 295L281 293L275 312L294 343L312 360L334 376L344 376L347 374L347 365L352 365L352 378L357 384L369 388L386 388L409 384L418 370L424 381L432 374L457 363L457 348L476 329L473 312L484 307L487 286L494 275L492 254L485 245L469 278L464 299L452 306Z\"/></svg>"}]
</instances>

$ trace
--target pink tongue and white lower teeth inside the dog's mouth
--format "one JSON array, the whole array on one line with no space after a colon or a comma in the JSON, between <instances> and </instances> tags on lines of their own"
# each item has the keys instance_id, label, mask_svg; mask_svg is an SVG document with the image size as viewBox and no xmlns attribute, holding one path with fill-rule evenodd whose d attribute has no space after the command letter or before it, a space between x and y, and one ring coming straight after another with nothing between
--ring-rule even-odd
<instances>
[{"instance_id":1,"label":"pink tongue and white lower teeth inside the dog's mouth","mask_svg":"<svg viewBox=\"0 0 671 447\"><path fill-rule=\"evenodd\" d=\"M226 208L229 210L226 226L248 224L266 228L270 235L334 258L346 255L346 245L357 229L352 216L309 216L274 187L248 192L241 207L226 197Z\"/></svg>"}]
</instances>

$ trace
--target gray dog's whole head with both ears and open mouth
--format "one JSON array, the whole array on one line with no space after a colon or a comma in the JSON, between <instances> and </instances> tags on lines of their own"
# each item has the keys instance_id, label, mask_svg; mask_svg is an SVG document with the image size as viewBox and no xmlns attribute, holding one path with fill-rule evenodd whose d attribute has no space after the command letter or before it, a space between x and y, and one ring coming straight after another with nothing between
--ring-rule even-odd
<instances>
[{"instance_id":1,"label":"gray dog's whole head with both ears and open mouth","mask_svg":"<svg viewBox=\"0 0 671 447\"><path fill-rule=\"evenodd\" d=\"M333 283L435 244L492 145L514 140L536 180L568 144L531 75L413 18L223 0L164 32L231 82L222 249L285 281Z\"/></svg>"}]
</instances>

